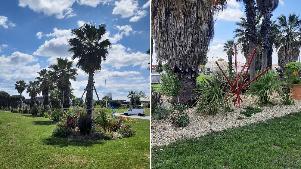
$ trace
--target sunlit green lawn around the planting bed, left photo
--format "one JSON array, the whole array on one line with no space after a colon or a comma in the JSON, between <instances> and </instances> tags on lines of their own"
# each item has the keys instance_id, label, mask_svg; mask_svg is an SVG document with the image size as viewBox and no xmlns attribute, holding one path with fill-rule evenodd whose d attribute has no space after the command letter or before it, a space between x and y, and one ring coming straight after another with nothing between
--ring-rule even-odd
<instances>
[{"instance_id":1,"label":"sunlit green lawn around the planting bed, left photo","mask_svg":"<svg viewBox=\"0 0 301 169\"><path fill-rule=\"evenodd\" d=\"M109 141L51 136L48 118L0 111L0 168L149 168L150 121L130 123L136 135Z\"/></svg>"}]
</instances>

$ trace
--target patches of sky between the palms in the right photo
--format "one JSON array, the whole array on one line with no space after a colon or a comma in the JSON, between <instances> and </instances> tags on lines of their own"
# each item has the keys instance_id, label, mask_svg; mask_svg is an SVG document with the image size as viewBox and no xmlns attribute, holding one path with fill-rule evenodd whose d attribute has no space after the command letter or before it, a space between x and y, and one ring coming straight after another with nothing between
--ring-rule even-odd
<instances>
[{"instance_id":1,"label":"patches of sky between the palms in the right photo","mask_svg":"<svg viewBox=\"0 0 301 169\"><path fill-rule=\"evenodd\" d=\"M300 12L301 1L297 0L280 0L278 8L272 13L272 20L276 20L280 14L288 16L290 13L295 12L296 14L301 14ZM216 56L218 58L223 58L225 61L228 61L228 58L223 52L223 45L226 40L230 40L235 35L233 33L234 29L238 28L235 24L237 21L240 21L240 17L245 17L244 14L244 4L242 2L236 2L235 0L228 0L227 8L225 11L220 12L215 17L215 36L213 41L210 43L210 50L208 53L209 61L212 61L211 56ZM301 19L301 17L299 17ZM237 38L235 39L237 41ZM153 54L153 64L155 64L155 55ZM214 61L218 60L214 58ZM239 54L237 55L237 61L245 63L245 58ZM275 51L272 55L272 63L278 62L277 52Z\"/></svg>"}]
</instances>

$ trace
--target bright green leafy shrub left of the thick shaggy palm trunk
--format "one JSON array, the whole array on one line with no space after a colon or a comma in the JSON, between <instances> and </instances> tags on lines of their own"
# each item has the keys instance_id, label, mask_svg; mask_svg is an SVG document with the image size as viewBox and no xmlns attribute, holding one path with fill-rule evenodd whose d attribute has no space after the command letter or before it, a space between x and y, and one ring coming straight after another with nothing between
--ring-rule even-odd
<instances>
[{"instance_id":1,"label":"bright green leafy shrub left of the thick shaggy palm trunk","mask_svg":"<svg viewBox=\"0 0 301 169\"><path fill-rule=\"evenodd\" d=\"M172 75L167 72L167 75L160 75L162 83L160 83L161 90L167 95L176 97L181 91L181 82L177 75Z\"/></svg>"}]
</instances>

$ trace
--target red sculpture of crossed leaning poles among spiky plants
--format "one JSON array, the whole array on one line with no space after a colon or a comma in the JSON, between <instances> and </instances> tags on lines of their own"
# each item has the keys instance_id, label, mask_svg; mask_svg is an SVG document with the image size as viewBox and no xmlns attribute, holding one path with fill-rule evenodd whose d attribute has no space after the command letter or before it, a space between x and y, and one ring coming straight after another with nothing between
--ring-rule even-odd
<instances>
[{"instance_id":1,"label":"red sculpture of crossed leaning poles among spiky plants","mask_svg":"<svg viewBox=\"0 0 301 169\"><path fill-rule=\"evenodd\" d=\"M243 69L241 69L240 73L237 75L237 60L236 60L236 52L234 52L234 55L235 55L235 74L236 74L236 79L233 83L231 83L231 81L229 80L229 78L227 77L227 75L225 74L225 72L222 70L221 66L219 66L219 63L217 63L217 61L215 62L216 65L219 67L219 69L222 71L223 75L225 76L225 78L227 79L228 83L230 84L230 89L228 91L228 94L226 95L225 97L225 100L224 101L228 101L229 99L231 99L233 96L237 95L236 96L236 99L234 101L234 106L238 100L238 107L240 108L240 101L241 103L243 103L243 100L240 98L239 94L240 94L240 91L243 90L245 87L247 87L250 83L252 83L252 81L254 81L256 78L258 78L260 75L262 75L263 73L265 73L266 71L268 71L268 69L270 69L270 67L268 67L267 69L265 69L263 72L261 72L259 75L257 75L255 78L253 78L252 80L250 80L247 84L243 85L244 84L244 81L246 80L247 78L247 73L249 71L249 68L250 66L248 66L247 70L246 70L246 73L244 75L244 78L240 84L240 86L238 85L238 78L239 76L241 75L241 73L244 71L244 68L246 67L247 63L250 61L249 65L252 63L252 60L253 60L253 57L256 53L256 50L257 50L257 47L255 47L254 51L251 53L251 55L249 56L248 60L246 61L246 63L244 64L244 67ZM236 45L234 45L234 51L236 51ZM235 89L234 88L234 85L236 83L236 86L237 88ZM241 87L243 86L243 87ZM231 94L232 92L234 92L234 94ZM228 98L228 96L230 95L230 97Z\"/></svg>"}]
</instances>

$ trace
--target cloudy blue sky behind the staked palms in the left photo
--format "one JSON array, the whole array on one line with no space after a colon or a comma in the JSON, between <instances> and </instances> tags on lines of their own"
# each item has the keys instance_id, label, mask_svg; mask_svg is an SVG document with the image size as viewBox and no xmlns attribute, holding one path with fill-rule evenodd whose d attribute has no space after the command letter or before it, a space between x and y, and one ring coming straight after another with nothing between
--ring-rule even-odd
<instances>
[{"instance_id":1,"label":"cloudy blue sky behind the staked palms in the left photo","mask_svg":"<svg viewBox=\"0 0 301 169\"><path fill-rule=\"evenodd\" d=\"M16 0L0 5L0 91L18 94L14 83L28 83L37 71L70 58L67 39L83 23L105 23L112 48L100 73L95 74L98 95L127 99L128 91L149 95L150 1L148 0ZM76 61L75 63L76 64ZM87 85L85 73L72 81L77 97ZM29 95L23 92L26 98ZM96 96L95 96L96 97Z\"/></svg>"}]
</instances>

